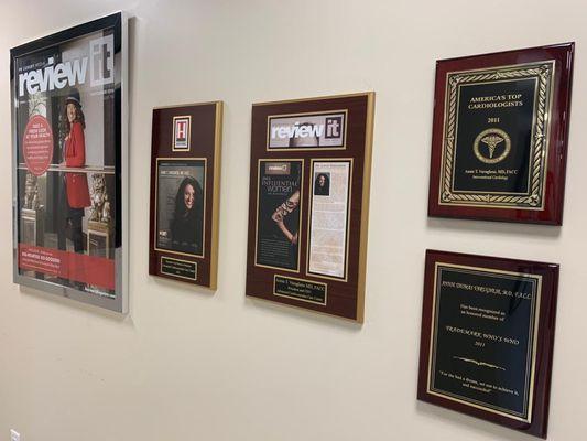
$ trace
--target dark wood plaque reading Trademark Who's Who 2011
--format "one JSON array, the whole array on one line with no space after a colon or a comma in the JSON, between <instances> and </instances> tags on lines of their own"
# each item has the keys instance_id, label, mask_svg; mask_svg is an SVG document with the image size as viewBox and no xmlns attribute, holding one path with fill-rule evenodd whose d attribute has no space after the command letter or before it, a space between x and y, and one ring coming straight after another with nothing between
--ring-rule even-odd
<instances>
[{"instance_id":1,"label":"dark wood plaque reading Trademark Who's Who 2011","mask_svg":"<svg viewBox=\"0 0 587 441\"><path fill-rule=\"evenodd\" d=\"M546 438L558 265L426 251L417 397Z\"/></svg>"}]
</instances>

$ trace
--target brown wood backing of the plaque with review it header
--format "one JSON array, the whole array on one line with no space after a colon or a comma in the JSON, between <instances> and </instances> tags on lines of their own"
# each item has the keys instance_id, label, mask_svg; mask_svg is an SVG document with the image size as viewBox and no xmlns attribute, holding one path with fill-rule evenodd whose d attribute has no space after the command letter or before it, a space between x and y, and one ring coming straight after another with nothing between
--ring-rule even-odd
<instances>
[{"instance_id":1,"label":"brown wood backing of the plaque with review it header","mask_svg":"<svg viewBox=\"0 0 587 441\"><path fill-rule=\"evenodd\" d=\"M251 165L250 165L250 191L249 191L249 241L247 252L247 295L284 303L307 310L313 310L330 315L337 315L358 322L362 322L362 306L365 287L365 268L361 268L361 247L366 246L366 237L361 237L365 225L362 215L367 201L363 200L363 185L369 184L369 175L366 174L366 149L370 150L369 112L373 94L357 94L339 97L312 98L304 100L276 101L253 105L252 130L251 130ZM313 150L282 150L268 151L268 117L275 115L290 115L302 112L318 112L333 110L348 110L348 130L345 150L313 149ZM370 153L370 151L369 151ZM352 179L350 192L350 224L348 226L348 276L347 280L333 280L307 273L307 234L311 181L311 160L320 159L352 159ZM367 155L370 161L370 155ZM303 159L303 192L300 203L302 209L301 236L298 239L300 269L291 272L279 269L262 268L254 265L256 261L256 223L257 223L257 191L258 191L258 163L260 159L284 160ZM366 233L366 232L365 232ZM273 294L273 277L281 275L316 283L327 283L326 305L309 303L306 301L285 298Z\"/></svg>"}]
</instances>

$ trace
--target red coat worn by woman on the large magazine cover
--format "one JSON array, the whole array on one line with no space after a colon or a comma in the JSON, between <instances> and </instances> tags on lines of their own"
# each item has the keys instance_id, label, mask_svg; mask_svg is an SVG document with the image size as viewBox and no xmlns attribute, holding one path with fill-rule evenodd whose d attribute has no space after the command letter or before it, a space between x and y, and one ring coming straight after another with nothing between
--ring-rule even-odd
<instances>
[{"instance_id":1,"label":"red coat worn by woman on the large magazine cover","mask_svg":"<svg viewBox=\"0 0 587 441\"><path fill-rule=\"evenodd\" d=\"M86 165L86 140L81 122L74 122L69 138L65 141L65 165ZM67 202L72 208L90 206L88 178L86 173L65 173Z\"/></svg>"}]
</instances>

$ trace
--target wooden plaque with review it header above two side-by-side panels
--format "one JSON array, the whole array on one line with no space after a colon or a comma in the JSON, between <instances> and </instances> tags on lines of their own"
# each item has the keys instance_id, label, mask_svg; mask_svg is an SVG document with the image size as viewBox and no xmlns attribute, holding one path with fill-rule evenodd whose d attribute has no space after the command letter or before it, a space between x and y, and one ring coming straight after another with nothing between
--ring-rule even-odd
<instances>
[{"instance_id":1,"label":"wooden plaque with review it header above two side-by-side panels","mask_svg":"<svg viewBox=\"0 0 587 441\"><path fill-rule=\"evenodd\" d=\"M362 323L373 106L253 105L247 295Z\"/></svg>"}]
</instances>

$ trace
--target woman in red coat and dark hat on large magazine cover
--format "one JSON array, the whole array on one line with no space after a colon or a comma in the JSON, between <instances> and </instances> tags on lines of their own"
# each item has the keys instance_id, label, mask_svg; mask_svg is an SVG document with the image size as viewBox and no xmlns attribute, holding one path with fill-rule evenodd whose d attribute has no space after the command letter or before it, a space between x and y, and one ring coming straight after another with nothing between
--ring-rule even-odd
<instances>
[{"instance_id":1,"label":"woman in red coat and dark hat on large magazine cover","mask_svg":"<svg viewBox=\"0 0 587 441\"><path fill-rule=\"evenodd\" d=\"M86 121L81 111L79 92L73 88L65 99L66 126L69 129L65 137L63 165L67 168L84 168L86 165L86 140L84 129ZM65 173L66 192L66 227L72 232L75 252L84 252L81 234L81 218L84 208L90 205L88 179L86 173Z\"/></svg>"}]
</instances>

